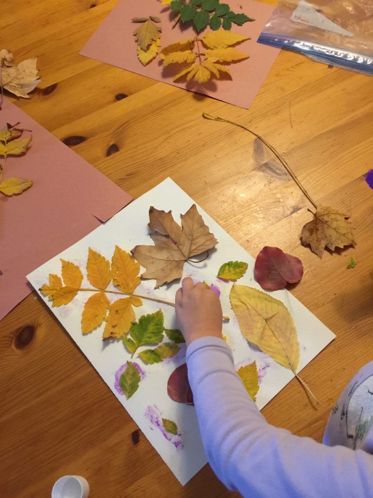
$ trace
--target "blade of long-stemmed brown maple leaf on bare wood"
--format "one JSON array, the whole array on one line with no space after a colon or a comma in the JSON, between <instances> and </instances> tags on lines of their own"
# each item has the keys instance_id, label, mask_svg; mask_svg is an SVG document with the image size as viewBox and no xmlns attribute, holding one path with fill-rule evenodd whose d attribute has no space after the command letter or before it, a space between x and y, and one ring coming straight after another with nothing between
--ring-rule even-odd
<instances>
[{"instance_id":1,"label":"blade of long-stemmed brown maple leaf on bare wood","mask_svg":"<svg viewBox=\"0 0 373 498\"><path fill-rule=\"evenodd\" d=\"M317 206L314 217L302 228L302 244L309 244L320 258L325 247L334 250L356 244L348 215L328 206Z\"/></svg>"}]
</instances>

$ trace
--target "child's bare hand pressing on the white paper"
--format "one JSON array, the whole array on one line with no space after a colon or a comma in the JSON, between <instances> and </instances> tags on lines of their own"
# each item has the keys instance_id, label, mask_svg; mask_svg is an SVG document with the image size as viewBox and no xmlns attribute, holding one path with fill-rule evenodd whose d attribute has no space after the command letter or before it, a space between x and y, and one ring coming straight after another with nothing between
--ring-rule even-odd
<instances>
[{"instance_id":1,"label":"child's bare hand pressing on the white paper","mask_svg":"<svg viewBox=\"0 0 373 498\"><path fill-rule=\"evenodd\" d=\"M187 346L199 337L222 338L220 300L204 283L194 285L190 277L183 279L182 288L175 296L176 316Z\"/></svg>"}]
</instances>

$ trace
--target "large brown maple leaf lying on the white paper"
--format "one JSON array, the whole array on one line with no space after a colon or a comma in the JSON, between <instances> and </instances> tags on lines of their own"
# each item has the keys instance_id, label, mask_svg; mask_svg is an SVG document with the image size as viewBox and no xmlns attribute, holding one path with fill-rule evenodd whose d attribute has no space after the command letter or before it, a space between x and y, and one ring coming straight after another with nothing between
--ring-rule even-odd
<instances>
[{"instance_id":1,"label":"large brown maple leaf lying on the white paper","mask_svg":"<svg viewBox=\"0 0 373 498\"><path fill-rule=\"evenodd\" d=\"M182 228L175 222L171 211L149 209L149 228L154 246L136 246L133 257L146 268L141 275L155 278L156 287L172 282L183 275L187 259L212 249L217 240L204 224L193 204L185 215L181 215Z\"/></svg>"}]
</instances>

